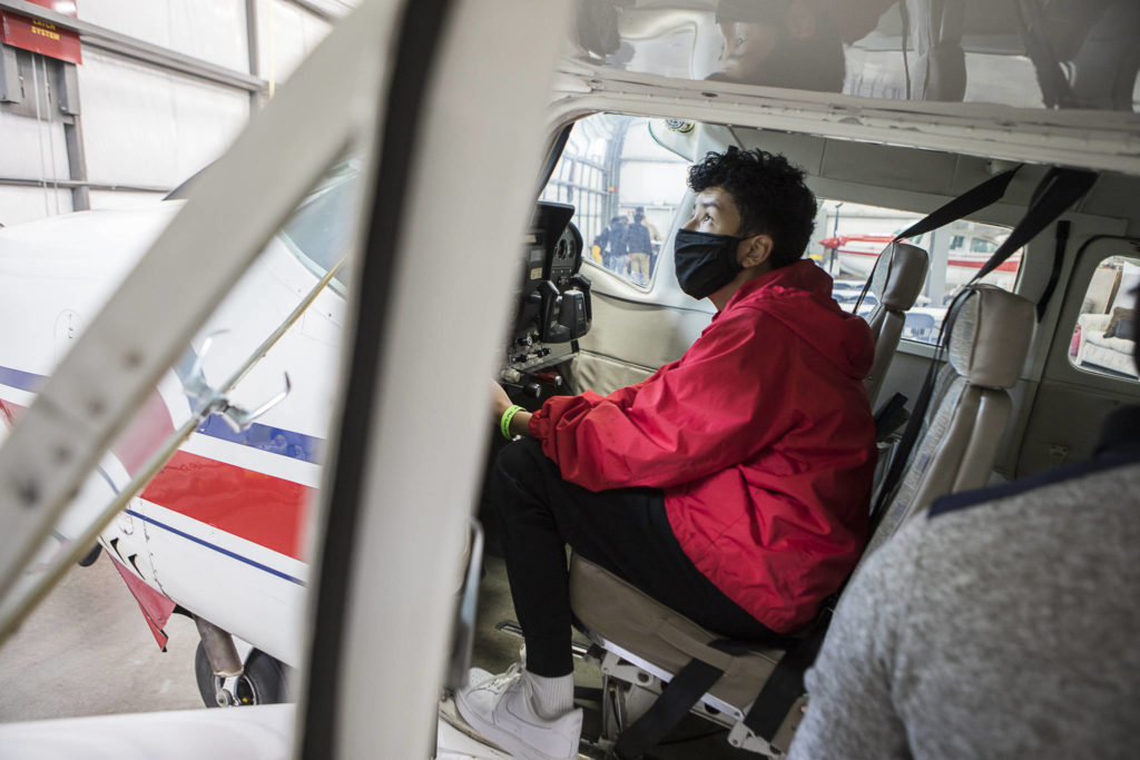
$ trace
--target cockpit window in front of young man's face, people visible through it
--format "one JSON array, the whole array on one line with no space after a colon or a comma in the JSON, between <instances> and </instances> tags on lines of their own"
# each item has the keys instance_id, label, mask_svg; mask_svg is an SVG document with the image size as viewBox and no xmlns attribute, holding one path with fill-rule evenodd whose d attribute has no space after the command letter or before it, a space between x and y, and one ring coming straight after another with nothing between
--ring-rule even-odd
<instances>
[{"instance_id":1,"label":"cockpit window in front of young man's face, people visible through it","mask_svg":"<svg viewBox=\"0 0 1140 760\"><path fill-rule=\"evenodd\" d=\"M587 264L649 289L687 167L649 119L597 114L575 124L542 198L576 207Z\"/></svg>"}]
</instances>

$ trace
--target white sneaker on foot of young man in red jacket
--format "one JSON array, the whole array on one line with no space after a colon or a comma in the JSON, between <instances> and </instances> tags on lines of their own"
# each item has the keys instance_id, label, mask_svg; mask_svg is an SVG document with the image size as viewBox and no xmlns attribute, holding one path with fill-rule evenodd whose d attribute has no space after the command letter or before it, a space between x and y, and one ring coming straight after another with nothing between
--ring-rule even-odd
<instances>
[{"instance_id":1,"label":"white sneaker on foot of young man in red jacket","mask_svg":"<svg viewBox=\"0 0 1140 760\"><path fill-rule=\"evenodd\" d=\"M523 760L577 760L581 708L544 720L530 706L530 688L519 663L499 676L472 668L455 706L479 734Z\"/></svg>"}]
</instances>

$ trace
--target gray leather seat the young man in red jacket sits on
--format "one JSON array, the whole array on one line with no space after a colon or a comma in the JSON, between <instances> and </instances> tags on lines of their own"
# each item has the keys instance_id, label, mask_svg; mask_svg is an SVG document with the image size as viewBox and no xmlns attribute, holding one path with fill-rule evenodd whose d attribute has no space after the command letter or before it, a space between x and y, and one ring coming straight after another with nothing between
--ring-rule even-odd
<instances>
[{"instance_id":1,"label":"gray leather seat the young man in red jacket sits on","mask_svg":"<svg viewBox=\"0 0 1140 760\"><path fill-rule=\"evenodd\" d=\"M1020 296L978 286L963 300L950 335L948 361L938 375L909 469L868 551L935 498L980 487L988 480L1009 419L1007 389L1017 383L1033 327L1033 304ZM769 757L787 751L806 704L805 695L784 716L771 744L740 722L783 655L781 649L762 648L743 655L714 649L709 644L720 638L717 634L577 556L570 564L570 598L575 616L605 651L602 669L606 678L658 692L662 681L690 660L708 662L725 675L694 711L728 726L730 743L735 746ZM636 705L627 705L626 722L636 713Z\"/></svg>"}]
</instances>

